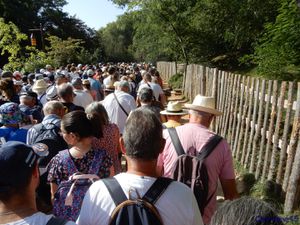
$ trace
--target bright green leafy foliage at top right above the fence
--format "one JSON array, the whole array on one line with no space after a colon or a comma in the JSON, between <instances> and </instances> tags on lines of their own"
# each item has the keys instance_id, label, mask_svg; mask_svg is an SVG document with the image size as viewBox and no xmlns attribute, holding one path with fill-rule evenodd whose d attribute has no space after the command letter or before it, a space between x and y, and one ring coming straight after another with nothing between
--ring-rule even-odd
<instances>
[{"instance_id":1,"label":"bright green leafy foliage at top right above the fence","mask_svg":"<svg viewBox=\"0 0 300 225\"><path fill-rule=\"evenodd\" d=\"M258 72L280 80L300 80L300 10L296 1L283 0L275 23L255 49Z\"/></svg>"}]
</instances>

